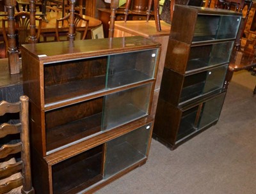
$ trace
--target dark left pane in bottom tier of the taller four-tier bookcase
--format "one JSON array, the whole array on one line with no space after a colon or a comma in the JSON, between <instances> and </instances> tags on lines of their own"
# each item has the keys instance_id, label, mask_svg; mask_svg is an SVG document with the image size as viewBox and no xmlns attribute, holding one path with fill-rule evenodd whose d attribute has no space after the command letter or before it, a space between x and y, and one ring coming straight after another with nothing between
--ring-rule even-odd
<instances>
[{"instance_id":1,"label":"dark left pane in bottom tier of the taller four-tier bookcase","mask_svg":"<svg viewBox=\"0 0 256 194\"><path fill-rule=\"evenodd\" d=\"M186 137L187 135L189 135L190 133L193 133L193 131L196 130L195 120L196 120L197 110L198 110L198 106L182 112L180 127L179 127L176 141L180 140L183 137Z\"/></svg>"}]
</instances>

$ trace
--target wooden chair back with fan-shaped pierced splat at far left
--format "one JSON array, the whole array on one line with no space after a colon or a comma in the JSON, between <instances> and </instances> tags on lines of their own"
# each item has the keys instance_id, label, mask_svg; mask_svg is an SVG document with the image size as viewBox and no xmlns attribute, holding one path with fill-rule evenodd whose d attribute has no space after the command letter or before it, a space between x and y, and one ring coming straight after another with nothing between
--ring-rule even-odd
<instances>
[{"instance_id":1,"label":"wooden chair back with fan-shaped pierced splat at far left","mask_svg":"<svg viewBox=\"0 0 256 194\"><path fill-rule=\"evenodd\" d=\"M14 31L16 34L16 44L17 44L17 48L19 50L20 45L28 43L30 15L28 12L20 11L19 13L16 13L14 15L14 20L15 20ZM41 26L42 26L42 19L36 18L36 20L38 21L36 38L37 38L37 40L39 40ZM4 37L4 42L6 44L6 56L7 56L7 51L8 51L8 38L7 38L7 25L6 25L7 21L8 21L8 19L2 20L3 37Z\"/></svg>"}]
</instances>

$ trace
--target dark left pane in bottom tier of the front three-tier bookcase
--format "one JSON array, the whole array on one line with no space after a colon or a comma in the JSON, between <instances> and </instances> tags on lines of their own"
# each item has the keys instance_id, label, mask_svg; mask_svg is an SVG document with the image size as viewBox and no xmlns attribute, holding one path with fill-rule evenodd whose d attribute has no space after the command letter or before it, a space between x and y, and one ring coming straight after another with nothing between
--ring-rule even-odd
<instances>
[{"instance_id":1,"label":"dark left pane in bottom tier of the front three-tier bookcase","mask_svg":"<svg viewBox=\"0 0 256 194\"><path fill-rule=\"evenodd\" d=\"M102 179L102 171L101 145L53 165L53 193L81 191L99 182Z\"/></svg>"}]
</instances>

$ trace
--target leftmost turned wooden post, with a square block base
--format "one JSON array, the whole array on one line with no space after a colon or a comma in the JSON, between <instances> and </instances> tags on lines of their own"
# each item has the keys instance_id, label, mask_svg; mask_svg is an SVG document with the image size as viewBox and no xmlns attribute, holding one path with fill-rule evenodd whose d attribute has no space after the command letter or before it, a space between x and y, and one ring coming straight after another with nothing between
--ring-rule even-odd
<instances>
[{"instance_id":1,"label":"leftmost turned wooden post, with a square block base","mask_svg":"<svg viewBox=\"0 0 256 194\"><path fill-rule=\"evenodd\" d=\"M10 74L20 73L19 51L16 45L14 8L16 0L6 0L8 18L8 64Z\"/></svg>"}]
</instances>

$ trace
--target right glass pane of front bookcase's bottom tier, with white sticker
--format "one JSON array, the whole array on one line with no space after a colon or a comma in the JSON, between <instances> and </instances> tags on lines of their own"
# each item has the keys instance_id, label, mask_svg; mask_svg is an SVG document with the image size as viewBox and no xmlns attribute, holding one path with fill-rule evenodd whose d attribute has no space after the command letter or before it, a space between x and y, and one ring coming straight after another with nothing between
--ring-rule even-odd
<instances>
[{"instance_id":1,"label":"right glass pane of front bookcase's bottom tier, with white sticker","mask_svg":"<svg viewBox=\"0 0 256 194\"><path fill-rule=\"evenodd\" d=\"M107 143L104 179L146 158L151 126L147 124Z\"/></svg>"}]
</instances>

